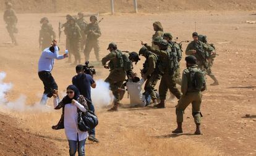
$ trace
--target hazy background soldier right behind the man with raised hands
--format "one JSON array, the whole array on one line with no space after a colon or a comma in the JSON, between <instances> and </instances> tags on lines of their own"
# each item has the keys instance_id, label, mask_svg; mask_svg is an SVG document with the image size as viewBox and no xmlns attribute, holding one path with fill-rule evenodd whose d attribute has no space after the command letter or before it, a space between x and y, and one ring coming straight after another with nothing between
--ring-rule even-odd
<instances>
[{"instance_id":1,"label":"hazy background soldier right behind the man with raised hands","mask_svg":"<svg viewBox=\"0 0 256 156\"><path fill-rule=\"evenodd\" d=\"M40 20L42 24L41 30L39 32L39 45L41 51L43 51L46 47L51 45L53 39L56 38L55 32L53 31L53 27L49 24L49 20L47 17L43 17Z\"/></svg>"}]
</instances>

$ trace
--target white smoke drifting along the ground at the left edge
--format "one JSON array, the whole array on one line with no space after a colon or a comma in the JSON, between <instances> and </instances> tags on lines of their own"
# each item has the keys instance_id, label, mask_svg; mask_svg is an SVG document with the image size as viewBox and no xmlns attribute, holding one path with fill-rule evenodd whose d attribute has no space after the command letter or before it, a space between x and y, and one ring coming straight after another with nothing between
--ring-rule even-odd
<instances>
[{"instance_id":1,"label":"white smoke drifting along the ground at the left edge","mask_svg":"<svg viewBox=\"0 0 256 156\"><path fill-rule=\"evenodd\" d=\"M43 111L48 112L49 110L53 110L50 107L47 107L46 105L40 105L39 102L37 102L34 105L26 105L26 99L27 97L25 95L21 95L17 100L15 101L7 101L6 95L9 91L12 89L12 83L4 83L3 80L6 78L6 73L0 72L0 107L3 110L15 110L18 112L23 111Z\"/></svg>"}]
</instances>

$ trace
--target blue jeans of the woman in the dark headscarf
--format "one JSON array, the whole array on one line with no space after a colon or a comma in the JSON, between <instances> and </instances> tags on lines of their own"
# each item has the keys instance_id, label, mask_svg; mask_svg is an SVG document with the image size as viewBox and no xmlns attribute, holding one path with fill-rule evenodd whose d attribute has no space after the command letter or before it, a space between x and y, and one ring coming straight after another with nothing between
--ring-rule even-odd
<instances>
[{"instance_id":1,"label":"blue jeans of the woman in the dark headscarf","mask_svg":"<svg viewBox=\"0 0 256 156\"><path fill-rule=\"evenodd\" d=\"M75 156L75 153L78 151L79 156L85 156L85 141L86 139L82 141L69 141L69 155ZM78 149L77 149L78 147Z\"/></svg>"}]
</instances>

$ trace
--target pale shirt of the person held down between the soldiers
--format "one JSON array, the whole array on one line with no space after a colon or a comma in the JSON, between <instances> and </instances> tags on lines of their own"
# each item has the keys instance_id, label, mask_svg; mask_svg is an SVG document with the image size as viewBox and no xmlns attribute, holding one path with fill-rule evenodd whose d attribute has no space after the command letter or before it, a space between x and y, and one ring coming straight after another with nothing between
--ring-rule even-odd
<instances>
[{"instance_id":1,"label":"pale shirt of the person held down between the soldiers","mask_svg":"<svg viewBox=\"0 0 256 156\"><path fill-rule=\"evenodd\" d=\"M143 78L137 82L133 83L128 81L126 83L127 91L129 92L130 96L130 104L132 105L139 105L140 107L145 107L146 100L145 96L142 94L142 85L145 82Z\"/></svg>"}]
</instances>

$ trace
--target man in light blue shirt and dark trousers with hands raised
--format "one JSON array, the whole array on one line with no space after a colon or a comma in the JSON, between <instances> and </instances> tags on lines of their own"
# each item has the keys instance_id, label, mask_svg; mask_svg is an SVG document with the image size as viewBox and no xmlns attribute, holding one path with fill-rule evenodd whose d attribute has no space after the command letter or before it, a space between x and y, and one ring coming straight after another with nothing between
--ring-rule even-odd
<instances>
[{"instance_id":1,"label":"man in light blue shirt and dark trousers with hands raised","mask_svg":"<svg viewBox=\"0 0 256 156\"><path fill-rule=\"evenodd\" d=\"M43 92L40 104L45 105L48 98L53 96L53 89L58 89L58 85L51 75L54 59L61 60L66 57L68 57L68 54L59 55L59 47L55 39L53 40L53 45L42 52L38 62L38 76L43 81L45 91Z\"/></svg>"}]
</instances>

